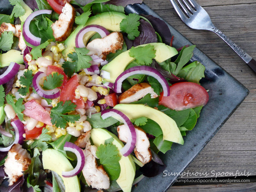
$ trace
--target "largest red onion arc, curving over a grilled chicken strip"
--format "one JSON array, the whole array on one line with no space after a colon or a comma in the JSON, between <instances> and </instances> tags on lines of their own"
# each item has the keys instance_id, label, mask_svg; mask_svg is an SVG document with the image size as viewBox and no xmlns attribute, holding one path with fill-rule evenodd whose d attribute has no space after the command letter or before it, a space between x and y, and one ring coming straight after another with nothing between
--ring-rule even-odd
<instances>
[{"instance_id":1,"label":"largest red onion arc, curving over a grilled chicken strip","mask_svg":"<svg viewBox=\"0 0 256 192\"><path fill-rule=\"evenodd\" d=\"M170 87L167 82L167 80L164 78L164 76L158 72L155 68L149 67L149 66L135 66L131 67L124 72L122 72L118 78L115 80L114 84L114 91L116 93L121 93L121 88L122 88L122 82L130 77L131 75L137 75L137 74L144 74L144 75L149 75L154 77L159 81L159 83L163 87L163 92L164 92L164 97L170 96ZM108 78L109 79L109 78Z\"/></svg>"}]
</instances>

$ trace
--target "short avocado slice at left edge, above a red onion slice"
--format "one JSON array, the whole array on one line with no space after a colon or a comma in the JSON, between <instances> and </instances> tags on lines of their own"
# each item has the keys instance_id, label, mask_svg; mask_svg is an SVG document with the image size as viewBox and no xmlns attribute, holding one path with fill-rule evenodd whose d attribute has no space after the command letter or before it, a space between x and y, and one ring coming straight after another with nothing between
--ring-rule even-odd
<instances>
[{"instance_id":1,"label":"short avocado slice at left edge, above a red onion slice","mask_svg":"<svg viewBox=\"0 0 256 192\"><path fill-rule=\"evenodd\" d=\"M0 68L9 66L10 62L22 64L23 55L21 55L21 52L15 49L11 49L6 53L0 54Z\"/></svg>"}]
</instances>

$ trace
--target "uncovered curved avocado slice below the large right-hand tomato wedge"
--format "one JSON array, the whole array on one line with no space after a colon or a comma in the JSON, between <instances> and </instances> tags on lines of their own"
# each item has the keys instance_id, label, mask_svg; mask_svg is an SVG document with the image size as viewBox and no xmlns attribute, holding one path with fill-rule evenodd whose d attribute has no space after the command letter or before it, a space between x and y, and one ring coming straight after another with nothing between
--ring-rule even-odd
<instances>
[{"instance_id":1,"label":"uncovered curved avocado slice below the large right-hand tomato wedge","mask_svg":"<svg viewBox=\"0 0 256 192\"><path fill-rule=\"evenodd\" d=\"M176 122L166 114L144 104L117 104L114 109L123 112L129 119L147 117L154 120L163 131L163 140L184 144Z\"/></svg>"}]
</instances>

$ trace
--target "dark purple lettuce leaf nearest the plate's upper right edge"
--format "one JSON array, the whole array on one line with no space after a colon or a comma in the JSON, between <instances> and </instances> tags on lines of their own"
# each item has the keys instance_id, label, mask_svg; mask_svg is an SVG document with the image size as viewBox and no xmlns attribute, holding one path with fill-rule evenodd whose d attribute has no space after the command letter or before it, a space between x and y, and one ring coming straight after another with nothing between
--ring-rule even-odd
<instances>
[{"instance_id":1,"label":"dark purple lettuce leaf nearest the plate's upper right edge","mask_svg":"<svg viewBox=\"0 0 256 192\"><path fill-rule=\"evenodd\" d=\"M145 18L147 18L150 21L150 23L152 24L152 26L154 27L155 31L157 33L159 33L163 42L167 45L170 45L171 31L170 31L169 27L167 26L167 24L163 20L161 20L157 17L151 16L151 15L142 14L141 16L144 16Z\"/></svg>"}]
</instances>

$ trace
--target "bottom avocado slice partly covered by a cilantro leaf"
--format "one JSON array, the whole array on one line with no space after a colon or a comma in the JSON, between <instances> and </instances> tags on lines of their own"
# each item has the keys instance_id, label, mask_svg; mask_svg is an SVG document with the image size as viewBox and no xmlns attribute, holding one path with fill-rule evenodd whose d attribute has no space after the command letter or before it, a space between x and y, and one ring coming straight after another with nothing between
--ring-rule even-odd
<instances>
[{"instance_id":1,"label":"bottom avocado slice partly covered by a cilantro leaf","mask_svg":"<svg viewBox=\"0 0 256 192\"><path fill-rule=\"evenodd\" d=\"M121 159L119 161L121 172L116 182L124 192L130 192L132 187L132 182L135 178L135 163L132 160L131 155L125 157L120 153L120 150L121 148L124 147L124 144L113 133L102 128L98 128L98 129L93 128L91 130L92 142L97 147L100 146L100 144L104 145L105 140L110 139L111 137L114 138L112 143L118 148L119 156L121 156Z\"/></svg>"}]
</instances>

